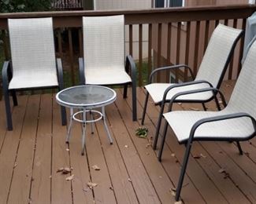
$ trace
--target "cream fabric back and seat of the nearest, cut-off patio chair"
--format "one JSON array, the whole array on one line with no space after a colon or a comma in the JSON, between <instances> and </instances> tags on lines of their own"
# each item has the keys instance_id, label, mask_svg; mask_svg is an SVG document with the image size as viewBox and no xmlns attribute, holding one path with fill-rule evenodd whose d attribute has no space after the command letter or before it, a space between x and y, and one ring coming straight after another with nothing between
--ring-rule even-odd
<instances>
[{"instance_id":1,"label":"cream fabric back and seat of the nearest, cut-off patio chair","mask_svg":"<svg viewBox=\"0 0 256 204\"><path fill-rule=\"evenodd\" d=\"M247 58L237 79L236 86L222 111L172 111L164 117L172 127L179 142L188 139L191 127L202 118L244 112L256 118L256 42L250 47ZM243 139L254 133L250 118L233 118L226 121L210 122L199 126L195 138L238 138Z\"/></svg>"}]
</instances>

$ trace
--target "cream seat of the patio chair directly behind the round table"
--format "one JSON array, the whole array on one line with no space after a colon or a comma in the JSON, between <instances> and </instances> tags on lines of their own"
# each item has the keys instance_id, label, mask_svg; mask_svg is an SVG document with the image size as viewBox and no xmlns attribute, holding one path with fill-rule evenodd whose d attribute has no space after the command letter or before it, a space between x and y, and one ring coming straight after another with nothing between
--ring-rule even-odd
<instances>
[{"instance_id":1,"label":"cream seat of the patio chair directly behind the round table","mask_svg":"<svg viewBox=\"0 0 256 204\"><path fill-rule=\"evenodd\" d=\"M86 84L111 85L132 82L131 77L121 68L86 69Z\"/></svg>"}]
</instances>

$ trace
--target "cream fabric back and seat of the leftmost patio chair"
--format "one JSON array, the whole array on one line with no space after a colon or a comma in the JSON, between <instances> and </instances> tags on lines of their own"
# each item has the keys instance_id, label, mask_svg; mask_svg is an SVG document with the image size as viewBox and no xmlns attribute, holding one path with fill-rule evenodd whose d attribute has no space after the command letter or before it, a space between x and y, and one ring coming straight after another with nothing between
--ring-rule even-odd
<instances>
[{"instance_id":1,"label":"cream fabric back and seat of the leftmost patio chair","mask_svg":"<svg viewBox=\"0 0 256 204\"><path fill-rule=\"evenodd\" d=\"M9 19L9 89L58 86L52 18Z\"/></svg>"}]
</instances>

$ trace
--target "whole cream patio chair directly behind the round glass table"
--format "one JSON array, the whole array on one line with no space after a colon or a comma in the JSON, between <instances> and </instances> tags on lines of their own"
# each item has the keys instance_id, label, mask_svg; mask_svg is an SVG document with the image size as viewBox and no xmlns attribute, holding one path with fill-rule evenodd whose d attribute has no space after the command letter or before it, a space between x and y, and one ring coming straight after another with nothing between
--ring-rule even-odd
<instances>
[{"instance_id":1,"label":"whole cream patio chair directly behind the round glass table","mask_svg":"<svg viewBox=\"0 0 256 204\"><path fill-rule=\"evenodd\" d=\"M132 84L132 119L137 120L136 67L132 56L124 65L124 16L83 17L83 58L79 59L81 85ZM131 76L132 77L131 77Z\"/></svg>"}]
</instances>

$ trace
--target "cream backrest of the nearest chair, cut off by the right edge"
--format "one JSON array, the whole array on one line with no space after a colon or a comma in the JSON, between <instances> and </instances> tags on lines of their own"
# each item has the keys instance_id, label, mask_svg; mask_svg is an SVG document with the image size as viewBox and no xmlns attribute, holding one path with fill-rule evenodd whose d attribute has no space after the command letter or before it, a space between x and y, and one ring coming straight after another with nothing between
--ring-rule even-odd
<instances>
[{"instance_id":1,"label":"cream backrest of the nearest chair, cut off by the right edge","mask_svg":"<svg viewBox=\"0 0 256 204\"><path fill-rule=\"evenodd\" d=\"M256 118L256 41L250 46L226 109Z\"/></svg>"}]
</instances>

